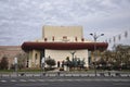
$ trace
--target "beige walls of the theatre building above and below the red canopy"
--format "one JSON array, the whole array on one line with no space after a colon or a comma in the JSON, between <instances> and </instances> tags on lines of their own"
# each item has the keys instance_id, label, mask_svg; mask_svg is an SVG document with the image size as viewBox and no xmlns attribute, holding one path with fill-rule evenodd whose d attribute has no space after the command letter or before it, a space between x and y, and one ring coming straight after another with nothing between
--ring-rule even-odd
<instances>
[{"instance_id":1,"label":"beige walls of the theatre building above and below the red canopy","mask_svg":"<svg viewBox=\"0 0 130 87\"><path fill-rule=\"evenodd\" d=\"M42 39L37 39L38 42L82 42L82 27L81 26L43 26ZM62 49L62 48L61 48ZM40 67L41 59L48 59L49 57L57 62L66 61L68 57L73 59L72 52L76 51L75 58L84 60L88 67L88 49L80 50L54 50L43 49L29 51L29 67ZM41 53L43 52L43 53ZM43 55L42 55L43 54ZM55 65L57 66L57 65Z\"/></svg>"}]
</instances>

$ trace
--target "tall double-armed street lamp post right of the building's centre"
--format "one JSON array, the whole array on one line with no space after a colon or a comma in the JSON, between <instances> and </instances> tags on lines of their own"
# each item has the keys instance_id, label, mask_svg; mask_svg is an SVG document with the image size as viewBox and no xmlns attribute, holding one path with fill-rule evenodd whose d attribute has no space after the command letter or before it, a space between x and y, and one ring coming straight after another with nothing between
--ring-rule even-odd
<instances>
[{"instance_id":1,"label":"tall double-armed street lamp post right of the building's centre","mask_svg":"<svg viewBox=\"0 0 130 87\"><path fill-rule=\"evenodd\" d=\"M94 34L90 34L93 39L94 39L94 52L96 51L96 40L99 37L101 36L104 36L104 34L101 34L101 35L96 35L95 33ZM95 73L95 76L96 76L96 54L94 53L94 73Z\"/></svg>"}]
</instances>

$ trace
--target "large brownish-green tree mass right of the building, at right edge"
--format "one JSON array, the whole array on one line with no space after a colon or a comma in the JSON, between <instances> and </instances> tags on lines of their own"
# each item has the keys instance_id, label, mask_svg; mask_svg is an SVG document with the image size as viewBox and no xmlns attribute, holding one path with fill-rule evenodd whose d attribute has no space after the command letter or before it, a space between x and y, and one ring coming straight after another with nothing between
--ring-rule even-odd
<instances>
[{"instance_id":1,"label":"large brownish-green tree mass right of the building, at right edge","mask_svg":"<svg viewBox=\"0 0 130 87\"><path fill-rule=\"evenodd\" d=\"M104 51L99 64L102 61L106 62L108 69L130 69L130 46L117 45L113 51Z\"/></svg>"}]
</instances>

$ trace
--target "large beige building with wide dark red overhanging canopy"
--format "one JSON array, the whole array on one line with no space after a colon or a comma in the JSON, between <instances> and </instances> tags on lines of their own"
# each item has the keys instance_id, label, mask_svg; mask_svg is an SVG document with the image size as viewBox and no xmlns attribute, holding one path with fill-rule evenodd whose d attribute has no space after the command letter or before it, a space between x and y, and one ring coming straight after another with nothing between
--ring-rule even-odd
<instances>
[{"instance_id":1,"label":"large beige building with wide dark red overhanging canopy","mask_svg":"<svg viewBox=\"0 0 130 87\"><path fill-rule=\"evenodd\" d=\"M88 51L94 50L94 44L83 38L81 26L43 26L42 39L26 41L22 45L22 49L29 54L29 67L40 67L42 58L49 57L56 61L55 66L61 66L68 57L84 60L88 67ZM107 46L106 42L96 42L99 50L105 50Z\"/></svg>"}]
</instances>

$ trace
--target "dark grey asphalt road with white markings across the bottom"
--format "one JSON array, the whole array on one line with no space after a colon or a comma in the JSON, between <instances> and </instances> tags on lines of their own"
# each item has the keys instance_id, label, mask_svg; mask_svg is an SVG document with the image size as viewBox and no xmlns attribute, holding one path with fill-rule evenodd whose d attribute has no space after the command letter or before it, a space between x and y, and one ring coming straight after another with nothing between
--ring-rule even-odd
<instances>
[{"instance_id":1,"label":"dark grey asphalt road with white markings across the bottom","mask_svg":"<svg viewBox=\"0 0 130 87\"><path fill-rule=\"evenodd\" d=\"M0 87L130 87L130 77L2 77Z\"/></svg>"}]
</instances>

